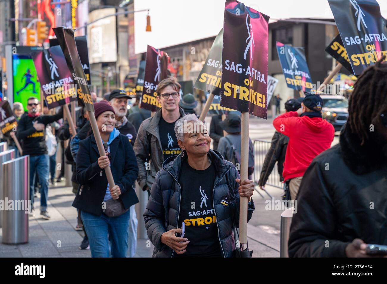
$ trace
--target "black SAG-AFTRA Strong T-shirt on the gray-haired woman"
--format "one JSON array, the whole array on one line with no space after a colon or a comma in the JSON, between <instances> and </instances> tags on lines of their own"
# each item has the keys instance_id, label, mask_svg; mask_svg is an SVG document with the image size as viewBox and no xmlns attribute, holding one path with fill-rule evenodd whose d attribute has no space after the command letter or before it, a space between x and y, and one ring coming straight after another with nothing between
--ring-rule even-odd
<instances>
[{"instance_id":1,"label":"black SAG-AFTRA Strong T-shirt on the gray-haired woman","mask_svg":"<svg viewBox=\"0 0 387 284\"><path fill-rule=\"evenodd\" d=\"M179 177L182 187L178 228L185 224L184 237L190 243L182 255L174 257L221 257L212 192L216 169L214 163L205 170L195 170L183 160Z\"/></svg>"}]
</instances>

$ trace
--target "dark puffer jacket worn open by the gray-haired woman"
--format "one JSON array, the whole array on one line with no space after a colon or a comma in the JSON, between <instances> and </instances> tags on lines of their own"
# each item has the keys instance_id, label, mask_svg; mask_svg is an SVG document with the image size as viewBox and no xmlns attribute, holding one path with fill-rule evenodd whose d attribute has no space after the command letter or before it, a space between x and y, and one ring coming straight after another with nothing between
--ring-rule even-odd
<instances>
[{"instance_id":1,"label":"dark puffer jacket worn open by the gray-haired woman","mask_svg":"<svg viewBox=\"0 0 387 284\"><path fill-rule=\"evenodd\" d=\"M217 177L214 181L213 200L215 204L216 223L219 229L219 240L224 257L232 257L235 250L233 222L239 227L239 173L231 162L223 159L217 151L209 151L210 159L216 168ZM161 235L166 231L176 229L180 206L179 171L182 165L181 154L165 160L163 168L157 173L152 185L151 196L144 213L145 227L149 240L154 244L153 257L171 257L173 250L161 243ZM229 205L220 203L228 196ZM247 220L254 211L254 202L248 206Z\"/></svg>"}]
</instances>

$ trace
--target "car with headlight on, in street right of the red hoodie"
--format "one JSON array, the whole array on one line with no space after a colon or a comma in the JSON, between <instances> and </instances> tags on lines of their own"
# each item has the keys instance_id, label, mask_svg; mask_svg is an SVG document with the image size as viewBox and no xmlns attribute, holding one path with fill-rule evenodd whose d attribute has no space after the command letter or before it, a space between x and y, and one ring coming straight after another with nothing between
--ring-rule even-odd
<instances>
[{"instance_id":1,"label":"car with headlight on, in street right of the red hoodie","mask_svg":"<svg viewBox=\"0 0 387 284\"><path fill-rule=\"evenodd\" d=\"M348 100L340 95L321 95L324 102L322 118L329 121L335 131L340 131L348 119Z\"/></svg>"}]
</instances>

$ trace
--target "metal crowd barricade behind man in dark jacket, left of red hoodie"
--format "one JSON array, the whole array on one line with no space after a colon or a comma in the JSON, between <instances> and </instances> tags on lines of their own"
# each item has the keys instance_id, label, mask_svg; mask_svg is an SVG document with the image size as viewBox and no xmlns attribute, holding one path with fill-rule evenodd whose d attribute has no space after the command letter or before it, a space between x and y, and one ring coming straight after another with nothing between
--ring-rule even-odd
<instances>
[{"instance_id":1,"label":"metal crowd barricade behind man in dark jacket, left of red hoodie","mask_svg":"<svg viewBox=\"0 0 387 284\"><path fill-rule=\"evenodd\" d=\"M254 182L258 184L265 156L270 149L271 141L254 140ZM266 184L283 189L283 184L279 180L277 163L267 179Z\"/></svg>"}]
</instances>

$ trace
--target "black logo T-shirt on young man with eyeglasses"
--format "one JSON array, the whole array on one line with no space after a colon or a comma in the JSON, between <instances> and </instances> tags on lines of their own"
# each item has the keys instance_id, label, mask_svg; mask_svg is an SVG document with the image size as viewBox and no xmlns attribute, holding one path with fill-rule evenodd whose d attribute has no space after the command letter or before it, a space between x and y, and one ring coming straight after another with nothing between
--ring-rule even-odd
<instances>
[{"instance_id":1,"label":"black logo T-shirt on young man with eyeglasses","mask_svg":"<svg viewBox=\"0 0 387 284\"><path fill-rule=\"evenodd\" d=\"M176 122L176 121L175 121ZM160 117L159 135L161 140L161 147L163 147L164 161L170 156L179 155L182 151L177 144L175 135L175 122L166 122L163 116Z\"/></svg>"}]
</instances>

